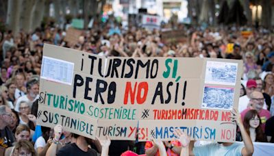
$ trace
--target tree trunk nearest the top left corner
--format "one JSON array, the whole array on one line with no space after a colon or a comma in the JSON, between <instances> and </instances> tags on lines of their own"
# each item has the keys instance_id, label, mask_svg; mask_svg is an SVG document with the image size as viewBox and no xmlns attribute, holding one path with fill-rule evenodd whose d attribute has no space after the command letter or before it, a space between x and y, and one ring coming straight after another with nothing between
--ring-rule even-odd
<instances>
[{"instance_id":1,"label":"tree trunk nearest the top left corner","mask_svg":"<svg viewBox=\"0 0 274 156\"><path fill-rule=\"evenodd\" d=\"M22 1L10 0L8 1L8 16L7 25L9 29L12 29L14 35L18 34L20 29L20 13L21 13Z\"/></svg>"}]
</instances>

